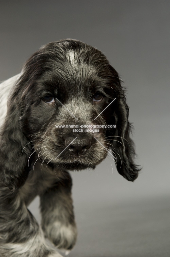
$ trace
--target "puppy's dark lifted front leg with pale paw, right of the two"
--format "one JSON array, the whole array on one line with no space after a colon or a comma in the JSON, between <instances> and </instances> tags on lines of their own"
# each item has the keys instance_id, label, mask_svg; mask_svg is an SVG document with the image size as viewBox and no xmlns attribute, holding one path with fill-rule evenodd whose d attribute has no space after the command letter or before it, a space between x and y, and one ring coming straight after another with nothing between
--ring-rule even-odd
<instances>
[{"instance_id":1,"label":"puppy's dark lifted front leg with pale paw, right of the two","mask_svg":"<svg viewBox=\"0 0 170 257\"><path fill-rule=\"evenodd\" d=\"M58 249L71 250L76 243L77 228L71 198L72 181L68 172L40 195L41 226Z\"/></svg>"}]
</instances>

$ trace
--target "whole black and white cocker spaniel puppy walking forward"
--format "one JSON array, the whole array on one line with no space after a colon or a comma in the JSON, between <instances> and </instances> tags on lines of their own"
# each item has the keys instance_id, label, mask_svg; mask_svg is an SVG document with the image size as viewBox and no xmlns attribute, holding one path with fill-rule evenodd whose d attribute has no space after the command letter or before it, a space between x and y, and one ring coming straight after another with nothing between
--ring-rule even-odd
<instances>
[{"instance_id":1,"label":"whole black and white cocker spaniel puppy walking forward","mask_svg":"<svg viewBox=\"0 0 170 257\"><path fill-rule=\"evenodd\" d=\"M69 171L107 154L129 181L140 170L119 75L99 50L66 39L41 47L0 90L0 256L61 257L55 246L77 238ZM27 209L37 195L41 227Z\"/></svg>"}]
</instances>

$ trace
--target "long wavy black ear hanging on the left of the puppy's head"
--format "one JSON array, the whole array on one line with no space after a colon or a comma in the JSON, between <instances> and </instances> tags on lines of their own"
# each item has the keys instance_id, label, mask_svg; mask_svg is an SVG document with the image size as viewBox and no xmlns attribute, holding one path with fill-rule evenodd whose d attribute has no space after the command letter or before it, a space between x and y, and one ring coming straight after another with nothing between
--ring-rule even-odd
<instances>
[{"instance_id":1,"label":"long wavy black ear hanging on the left of the puppy's head","mask_svg":"<svg viewBox=\"0 0 170 257\"><path fill-rule=\"evenodd\" d=\"M41 54L43 58L53 56L40 49L26 61L19 78L11 85L12 93L8 99L7 114L0 131L0 185L8 186L12 190L26 181L29 166L31 167L34 159L34 155L31 155L28 166L32 145L28 144L23 127L26 125L24 119L31 104L30 88L34 87L34 81L44 68L41 67L41 63L44 63Z\"/></svg>"}]
</instances>

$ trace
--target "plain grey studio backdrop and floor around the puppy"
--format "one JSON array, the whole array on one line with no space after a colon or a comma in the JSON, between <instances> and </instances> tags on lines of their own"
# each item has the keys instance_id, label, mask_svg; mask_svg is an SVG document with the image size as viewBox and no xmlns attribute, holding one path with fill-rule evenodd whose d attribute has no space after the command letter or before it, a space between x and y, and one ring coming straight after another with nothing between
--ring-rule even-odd
<instances>
[{"instance_id":1,"label":"plain grey studio backdrop and floor around the puppy","mask_svg":"<svg viewBox=\"0 0 170 257\"><path fill-rule=\"evenodd\" d=\"M72 172L79 235L70 257L170 255L169 10L169 1L151 0L0 2L0 80L41 45L73 38L101 50L128 90L143 169L134 183L110 157ZM38 205L29 208L40 221Z\"/></svg>"}]
</instances>

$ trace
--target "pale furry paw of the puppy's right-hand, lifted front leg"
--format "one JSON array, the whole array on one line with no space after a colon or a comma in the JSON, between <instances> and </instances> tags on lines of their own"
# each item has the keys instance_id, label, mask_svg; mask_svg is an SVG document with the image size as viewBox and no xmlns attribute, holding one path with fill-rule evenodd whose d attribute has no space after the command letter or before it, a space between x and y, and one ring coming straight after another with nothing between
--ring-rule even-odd
<instances>
[{"instance_id":1,"label":"pale furry paw of the puppy's right-hand, lifted front leg","mask_svg":"<svg viewBox=\"0 0 170 257\"><path fill-rule=\"evenodd\" d=\"M57 221L45 226L43 230L45 230L45 236L48 237L58 249L65 250L65 255L69 254L66 250L71 250L76 243L76 225L64 225Z\"/></svg>"}]
</instances>

